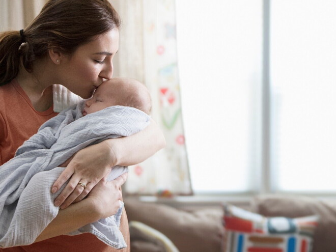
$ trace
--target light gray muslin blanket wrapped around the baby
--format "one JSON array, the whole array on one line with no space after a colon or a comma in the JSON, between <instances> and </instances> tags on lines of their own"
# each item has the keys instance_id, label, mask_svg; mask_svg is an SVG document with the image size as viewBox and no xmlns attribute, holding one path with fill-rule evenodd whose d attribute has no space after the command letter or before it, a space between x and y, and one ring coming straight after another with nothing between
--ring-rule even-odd
<instances>
[{"instance_id":1,"label":"light gray muslin blanket wrapped around the baby","mask_svg":"<svg viewBox=\"0 0 336 252\"><path fill-rule=\"evenodd\" d=\"M82 116L83 101L45 122L38 133L0 166L0 247L28 245L35 241L59 207L51 186L65 168L58 165L77 151L104 139L129 136L149 124L149 116L132 107L111 106ZM127 172L115 166L108 179ZM123 203L118 213L90 223L68 235L92 233L115 248L126 246L119 230Z\"/></svg>"}]
</instances>

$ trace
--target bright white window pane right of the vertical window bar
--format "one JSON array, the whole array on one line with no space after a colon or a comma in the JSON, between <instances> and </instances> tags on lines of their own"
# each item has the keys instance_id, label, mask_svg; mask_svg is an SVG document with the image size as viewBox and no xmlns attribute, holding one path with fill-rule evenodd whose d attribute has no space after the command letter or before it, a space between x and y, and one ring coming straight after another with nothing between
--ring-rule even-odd
<instances>
[{"instance_id":1,"label":"bright white window pane right of the vertical window bar","mask_svg":"<svg viewBox=\"0 0 336 252\"><path fill-rule=\"evenodd\" d=\"M336 189L335 13L335 1L271 1L271 160L276 190Z\"/></svg>"}]
</instances>

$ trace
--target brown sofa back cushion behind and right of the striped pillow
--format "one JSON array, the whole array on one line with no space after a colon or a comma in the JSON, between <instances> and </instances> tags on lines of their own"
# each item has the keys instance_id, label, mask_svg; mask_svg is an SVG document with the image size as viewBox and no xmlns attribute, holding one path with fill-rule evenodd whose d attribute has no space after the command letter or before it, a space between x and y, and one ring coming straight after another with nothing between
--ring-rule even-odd
<instances>
[{"instance_id":1,"label":"brown sofa back cushion behind and right of the striped pillow","mask_svg":"<svg viewBox=\"0 0 336 252\"><path fill-rule=\"evenodd\" d=\"M251 206L253 211L265 216L299 217L311 214L320 216L314 234L312 252L336 251L336 201L318 200L310 197L284 195L260 195Z\"/></svg>"}]
</instances>

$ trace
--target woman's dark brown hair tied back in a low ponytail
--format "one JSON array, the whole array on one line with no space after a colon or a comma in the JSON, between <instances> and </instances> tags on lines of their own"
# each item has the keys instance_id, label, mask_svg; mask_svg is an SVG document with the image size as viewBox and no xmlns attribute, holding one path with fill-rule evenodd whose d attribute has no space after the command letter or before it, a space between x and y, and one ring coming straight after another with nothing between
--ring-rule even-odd
<instances>
[{"instance_id":1,"label":"woman's dark brown hair tied back in a low ponytail","mask_svg":"<svg viewBox=\"0 0 336 252\"><path fill-rule=\"evenodd\" d=\"M20 57L32 72L34 60L43 58L48 49L57 47L71 54L120 25L117 11L107 0L49 0L21 34L0 33L0 86L16 77Z\"/></svg>"}]
</instances>

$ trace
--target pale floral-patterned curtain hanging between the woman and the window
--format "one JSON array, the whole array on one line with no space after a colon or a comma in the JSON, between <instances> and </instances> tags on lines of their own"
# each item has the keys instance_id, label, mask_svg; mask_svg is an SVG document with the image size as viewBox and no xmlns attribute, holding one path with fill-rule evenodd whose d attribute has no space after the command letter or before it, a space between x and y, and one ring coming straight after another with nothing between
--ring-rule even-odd
<instances>
[{"instance_id":1,"label":"pale floral-patterned curtain hanging between the woman and the window","mask_svg":"<svg viewBox=\"0 0 336 252\"><path fill-rule=\"evenodd\" d=\"M176 49L175 0L111 1L123 20L115 76L144 81L152 100L152 118L166 139L165 149L130 167L128 194L192 193L181 116Z\"/></svg>"}]
</instances>

